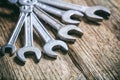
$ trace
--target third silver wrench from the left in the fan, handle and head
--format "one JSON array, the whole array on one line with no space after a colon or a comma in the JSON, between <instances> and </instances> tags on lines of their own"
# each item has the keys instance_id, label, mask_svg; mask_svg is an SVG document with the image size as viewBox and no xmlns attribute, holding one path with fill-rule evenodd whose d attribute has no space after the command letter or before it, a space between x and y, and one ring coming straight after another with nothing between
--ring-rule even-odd
<instances>
[{"instance_id":1,"label":"third silver wrench from the left in the fan, handle and head","mask_svg":"<svg viewBox=\"0 0 120 80\"><path fill-rule=\"evenodd\" d=\"M38 34L45 41L45 45L43 46L43 53L45 53L49 57L57 58L57 54L53 50L61 49L63 52L67 52L68 51L67 44L61 40L55 40L48 33L48 31L45 29L45 27L42 25L42 23L39 21L39 19L34 13L33 16L34 27Z\"/></svg>"}]
</instances>

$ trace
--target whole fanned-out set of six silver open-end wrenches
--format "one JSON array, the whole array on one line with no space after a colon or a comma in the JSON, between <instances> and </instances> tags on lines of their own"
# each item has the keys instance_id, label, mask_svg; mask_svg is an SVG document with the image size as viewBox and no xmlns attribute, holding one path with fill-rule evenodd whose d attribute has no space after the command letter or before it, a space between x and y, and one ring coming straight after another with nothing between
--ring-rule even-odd
<instances>
[{"instance_id":1,"label":"whole fanned-out set of six silver open-end wrenches","mask_svg":"<svg viewBox=\"0 0 120 80\"><path fill-rule=\"evenodd\" d=\"M33 29L45 42L43 53L49 57L57 58L54 50L61 50L66 53L68 46L65 42L74 43L76 41L73 34L82 37L83 32L76 24L80 23L83 17L94 22L100 22L111 14L110 10L103 6L81 6L62 0L8 0L8 2L19 7L20 15L10 40L1 47L1 54L4 55L7 51L11 55L15 53L15 42L22 27L24 27L24 46L17 51L18 58L24 63L26 62L24 56L26 53L34 53L38 61L41 58L41 50L33 42ZM60 18L61 21L52 15ZM57 31L60 40L52 37L41 20Z\"/></svg>"}]
</instances>

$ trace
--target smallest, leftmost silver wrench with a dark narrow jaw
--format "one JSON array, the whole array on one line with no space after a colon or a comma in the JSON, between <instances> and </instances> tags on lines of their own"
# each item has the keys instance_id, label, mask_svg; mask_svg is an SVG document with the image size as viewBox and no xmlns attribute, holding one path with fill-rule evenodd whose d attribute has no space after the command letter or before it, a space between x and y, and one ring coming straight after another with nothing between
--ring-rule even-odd
<instances>
[{"instance_id":1,"label":"smallest, leftmost silver wrench with a dark narrow jaw","mask_svg":"<svg viewBox=\"0 0 120 80\"><path fill-rule=\"evenodd\" d=\"M28 15L28 11L29 9L28 8L24 8L23 6L20 7L20 17L19 17L19 20L17 22L17 25L13 31L13 34L10 38L10 40L8 41L7 44L5 44L4 46L1 47L1 54L4 55L4 53L9 50L10 54L13 55L13 53L15 52L16 50L16 47L15 47L15 42L16 42L16 39L21 31L21 28L23 26L23 23L25 21L25 18L26 16Z\"/></svg>"}]
</instances>

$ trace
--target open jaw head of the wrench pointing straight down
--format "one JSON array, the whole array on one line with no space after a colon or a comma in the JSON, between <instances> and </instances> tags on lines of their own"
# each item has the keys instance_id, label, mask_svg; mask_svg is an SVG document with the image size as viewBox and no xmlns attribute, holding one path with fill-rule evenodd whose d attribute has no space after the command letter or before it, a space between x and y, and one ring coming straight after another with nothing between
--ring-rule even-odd
<instances>
[{"instance_id":1,"label":"open jaw head of the wrench pointing straight down","mask_svg":"<svg viewBox=\"0 0 120 80\"><path fill-rule=\"evenodd\" d=\"M26 62L26 58L25 58L25 53L34 53L35 57L37 58L37 60L39 61L41 58L41 51L36 48L36 47L23 47L21 49L18 50L17 52L17 57L23 62Z\"/></svg>"}]
</instances>

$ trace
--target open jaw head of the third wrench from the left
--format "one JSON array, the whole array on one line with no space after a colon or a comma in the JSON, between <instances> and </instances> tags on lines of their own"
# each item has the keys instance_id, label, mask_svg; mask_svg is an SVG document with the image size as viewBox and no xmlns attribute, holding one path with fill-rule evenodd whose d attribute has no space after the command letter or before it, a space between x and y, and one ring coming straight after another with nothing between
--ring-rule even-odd
<instances>
[{"instance_id":1,"label":"open jaw head of the third wrench from the left","mask_svg":"<svg viewBox=\"0 0 120 80\"><path fill-rule=\"evenodd\" d=\"M54 50L61 49L63 52L68 51L68 46L65 42L60 40L52 40L46 43L43 47L43 53L45 53L47 56L52 58L57 58L57 54L54 52Z\"/></svg>"}]
</instances>

